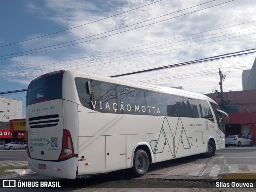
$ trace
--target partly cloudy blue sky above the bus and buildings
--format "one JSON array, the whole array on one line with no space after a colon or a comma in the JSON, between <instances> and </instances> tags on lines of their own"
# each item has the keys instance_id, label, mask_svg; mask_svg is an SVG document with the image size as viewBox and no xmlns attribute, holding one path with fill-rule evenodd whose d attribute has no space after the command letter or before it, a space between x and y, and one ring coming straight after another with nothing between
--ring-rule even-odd
<instances>
[{"instance_id":1,"label":"partly cloudy blue sky above the bus and buildings","mask_svg":"<svg viewBox=\"0 0 256 192\"><path fill-rule=\"evenodd\" d=\"M156 0L0 1L0 46L4 46L0 47L0 92L26 89L32 79L54 70L75 69L110 76L256 46L255 0L162 0L144 6L152 2ZM218 5L224 2L227 3ZM202 5L197 6L199 4ZM138 8L140 6L144 7ZM192 6L195 7L190 8ZM214 7L208 8L210 6ZM126 12L134 8L138 9ZM122 12L126 13L104 19ZM182 14L186 15L180 16ZM179 17L173 18L176 16ZM94 22L100 19L104 20ZM144 22L146 20L150 21ZM87 24L90 22L93 23ZM152 24L154 22L159 23ZM126 27L129 25L132 26ZM80 27L74 28L76 26ZM122 27L126 28L118 29ZM141 28L132 30L137 27ZM66 30L69 28L74 29ZM44 36L61 30L66 31ZM117 32L123 33L114 35ZM111 36L101 38L108 35ZM39 36L44 37L36 38ZM6 46L31 38L36 39ZM232 39L225 40L227 38ZM63 44L73 40L76 41ZM84 42L87 40L91 41ZM219 41L212 42L216 40ZM74 43L80 44L58 48ZM61 45L54 46L56 44ZM51 47L44 48L48 46ZM13 57L35 52L30 51L32 49L42 52ZM52 50L44 51L46 49ZM23 51L27 52L14 54ZM242 90L242 70L250 69L255 57L256 54L251 54L118 78L171 87L183 86L196 93L212 93L212 90L220 90L220 68L226 74L224 91L239 91ZM1 96L22 99L24 118L25 95Z\"/></svg>"}]
</instances>

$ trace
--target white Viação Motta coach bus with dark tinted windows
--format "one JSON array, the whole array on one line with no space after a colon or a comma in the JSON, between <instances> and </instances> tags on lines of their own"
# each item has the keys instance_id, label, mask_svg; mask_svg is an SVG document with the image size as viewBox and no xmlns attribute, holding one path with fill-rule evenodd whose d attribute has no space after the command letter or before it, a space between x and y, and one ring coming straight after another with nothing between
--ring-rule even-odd
<instances>
[{"instance_id":1,"label":"white Via\u00e7\u00e3o Motta coach bus with dark tinted windows","mask_svg":"<svg viewBox=\"0 0 256 192\"><path fill-rule=\"evenodd\" d=\"M75 179L225 147L228 116L205 95L79 71L34 79L26 95L28 165Z\"/></svg>"}]
</instances>

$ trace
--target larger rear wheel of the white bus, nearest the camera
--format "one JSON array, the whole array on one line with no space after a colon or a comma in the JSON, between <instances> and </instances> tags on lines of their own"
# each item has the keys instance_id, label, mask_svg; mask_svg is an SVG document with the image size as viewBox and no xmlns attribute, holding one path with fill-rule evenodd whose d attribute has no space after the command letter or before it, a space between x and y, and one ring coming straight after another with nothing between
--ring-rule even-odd
<instances>
[{"instance_id":1,"label":"larger rear wheel of the white bus, nearest the camera","mask_svg":"<svg viewBox=\"0 0 256 192\"><path fill-rule=\"evenodd\" d=\"M148 165L148 154L142 149L137 150L133 158L133 173L136 176L143 176L148 171Z\"/></svg>"}]
</instances>

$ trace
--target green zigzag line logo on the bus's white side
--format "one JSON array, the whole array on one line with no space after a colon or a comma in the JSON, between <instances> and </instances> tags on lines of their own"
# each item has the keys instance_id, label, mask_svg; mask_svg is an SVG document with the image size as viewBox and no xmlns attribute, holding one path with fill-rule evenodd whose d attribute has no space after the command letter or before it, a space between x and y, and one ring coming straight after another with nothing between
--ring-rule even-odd
<instances>
[{"instance_id":1,"label":"green zigzag line logo on the bus's white side","mask_svg":"<svg viewBox=\"0 0 256 192\"><path fill-rule=\"evenodd\" d=\"M167 118L164 117L158 139L150 141L150 146L154 154L168 150L171 152L173 158L176 157L179 146L185 150L190 150L191 145L192 137L187 136L180 118L178 118L175 128L171 127Z\"/></svg>"}]
</instances>

